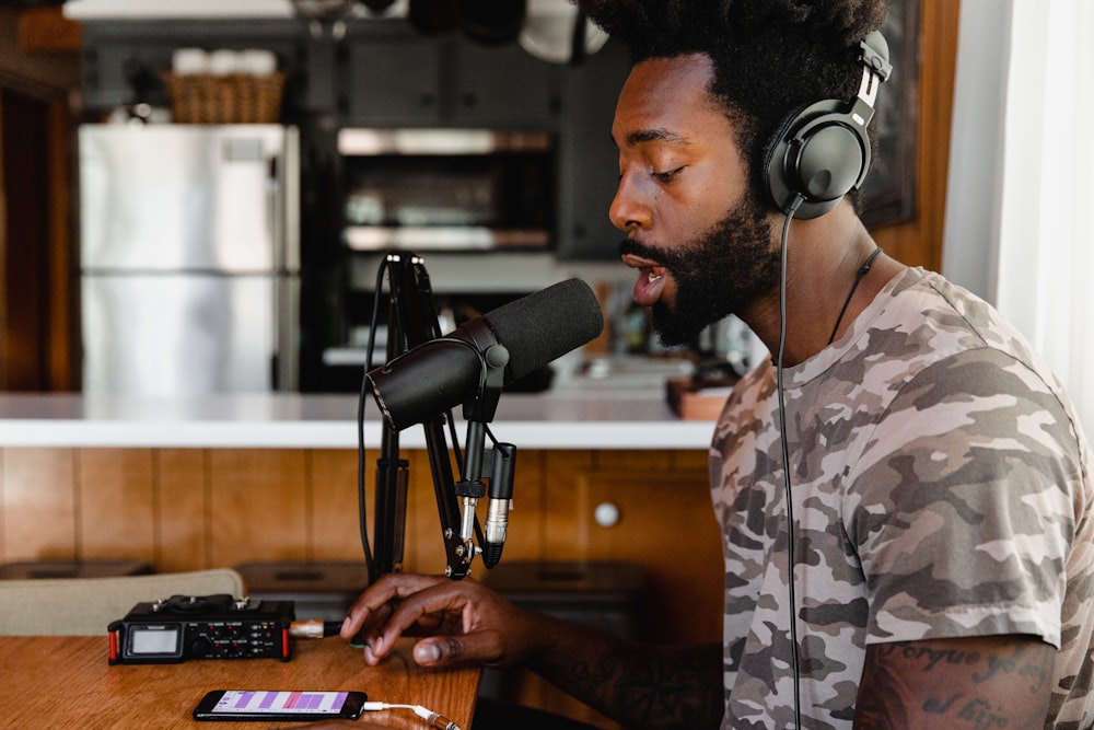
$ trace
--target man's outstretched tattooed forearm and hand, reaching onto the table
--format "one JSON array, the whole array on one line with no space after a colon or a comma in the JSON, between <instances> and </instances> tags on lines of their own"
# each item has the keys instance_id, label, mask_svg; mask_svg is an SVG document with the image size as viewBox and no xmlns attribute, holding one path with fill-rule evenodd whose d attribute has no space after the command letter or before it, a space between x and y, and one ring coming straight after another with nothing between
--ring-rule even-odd
<instances>
[{"instance_id":1,"label":"man's outstretched tattooed forearm and hand, reaching onto the table","mask_svg":"<svg viewBox=\"0 0 1094 730\"><path fill-rule=\"evenodd\" d=\"M718 728L724 710L722 650L643 647L524 611L473 580L392 573L357 600L341 635L359 633L379 663L412 629L419 664L526 664L628 728Z\"/></svg>"}]
</instances>

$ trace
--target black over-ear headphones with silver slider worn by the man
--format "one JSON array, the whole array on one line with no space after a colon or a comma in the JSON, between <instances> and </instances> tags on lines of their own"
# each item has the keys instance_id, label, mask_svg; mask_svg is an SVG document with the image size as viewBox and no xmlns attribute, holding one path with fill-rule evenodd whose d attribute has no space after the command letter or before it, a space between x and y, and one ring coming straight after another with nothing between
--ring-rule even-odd
<instances>
[{"instance_id":1,"label":"black over-ear headphones with silver slider worn by the man","mask_svg":"<svg viewBox=\"0 0 1094 730\"><path fill-rule=\"evenodd\" d=\"M778 127L764 159L764 181L775 205L795 218L817 218L862 185L870 169L866 125L882 82L889 78L888 44L874 31L862 40L862 83L846 103L827 99L799 107ZM795 199L801 205L793 210Z\"/></svg>"}]
</instances>

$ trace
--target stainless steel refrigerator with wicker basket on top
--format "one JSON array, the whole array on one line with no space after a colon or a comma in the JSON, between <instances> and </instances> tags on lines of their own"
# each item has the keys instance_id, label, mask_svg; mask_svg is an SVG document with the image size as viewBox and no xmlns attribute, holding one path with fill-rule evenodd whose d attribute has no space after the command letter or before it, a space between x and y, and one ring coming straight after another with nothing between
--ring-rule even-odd
<instances>
[{"instance_id":1,"label":"stainless steel refrigerator with wicker basket on top","mask_svg":"<svg viewBox=\"0 0 1094 730\"><path fill-rule=\"evenodd\" d=\"M85 393L298 387L298 132L83 125Z\"/></svg>"}]
</instances>

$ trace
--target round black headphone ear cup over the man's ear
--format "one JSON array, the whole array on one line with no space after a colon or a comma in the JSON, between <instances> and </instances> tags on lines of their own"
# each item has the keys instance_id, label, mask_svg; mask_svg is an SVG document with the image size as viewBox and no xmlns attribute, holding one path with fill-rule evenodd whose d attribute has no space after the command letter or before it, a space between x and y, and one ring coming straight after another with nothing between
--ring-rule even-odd
<instances>
[{"instance_id":1,"label":"round black headphone ear cup over the man's ear","mask_svg":"<svg viewBox=\"0 0 1094 730\"><path fill-rule=\"evenodd\" d=\"M768 190L783 212L790 212L801 196L794 217L817 218L862 184L870 166L870 140L846 109L836 100L817 102L783 123L769 143Z\"/></svg>"}]
</instances>

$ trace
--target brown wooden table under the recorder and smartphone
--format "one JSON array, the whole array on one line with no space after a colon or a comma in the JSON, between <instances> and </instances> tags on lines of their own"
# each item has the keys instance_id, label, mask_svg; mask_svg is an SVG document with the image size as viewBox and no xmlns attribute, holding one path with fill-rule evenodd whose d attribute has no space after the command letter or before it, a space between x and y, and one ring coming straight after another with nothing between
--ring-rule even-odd
<instances>
[{"instance_id":1,"label":"brown wooden table under the recorder and smartphone","mask_svg":"<svg viewBox=\"0 0 1094 730\"><path fill-rule=\"evenodd\" d=\"M298 641L292 660L195 660L182 664L107 663L107 638L0 637L0 727L191 728L257 730L287 722L198 722L193 711L211 690L363 690L369 699L423 705L469 730L480 671L418 667L400 640L380 667L341 639ZM409 710L362 719L405 730L427 728Z\"/></svg>"}]
</instances>

